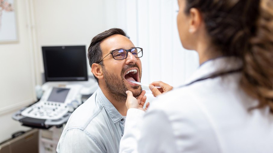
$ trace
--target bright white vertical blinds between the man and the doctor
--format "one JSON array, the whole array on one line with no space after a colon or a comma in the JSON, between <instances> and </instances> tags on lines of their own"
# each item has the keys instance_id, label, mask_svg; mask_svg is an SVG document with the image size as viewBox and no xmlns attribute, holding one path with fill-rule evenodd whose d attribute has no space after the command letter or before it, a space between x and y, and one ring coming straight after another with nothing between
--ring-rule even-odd
<instances>
[{"instance_id":1,"label":"bright white vertical blinds between the man and the doctor","mask_svg":"<svg viewBox=\"0 0 273 153\"><path fill-rule=\"evenodd\" d=\"M179 86L199 66L198 54L185 50L179 39L174 0L107 1L107 28L124 29L143 48L143 83L164 81Z\"/></svg>"}]
</instances>

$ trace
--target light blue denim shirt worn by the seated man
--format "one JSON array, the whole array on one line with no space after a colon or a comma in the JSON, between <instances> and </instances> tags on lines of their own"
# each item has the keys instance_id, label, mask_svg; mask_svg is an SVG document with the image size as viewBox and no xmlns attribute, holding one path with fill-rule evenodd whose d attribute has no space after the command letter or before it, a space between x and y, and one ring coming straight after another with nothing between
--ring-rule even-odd
<instances>
[{"instance_id":1,"label":"light blue denim shirt worn by the seated man","mask_svg":"<svg viewBox=\"0 0 273 153\"><path fill-rule=\"evenodd\" d=\"M58 153L117 153L124 117L98 88L70 116L58 142Z\"/></svg>"}]
</instances>

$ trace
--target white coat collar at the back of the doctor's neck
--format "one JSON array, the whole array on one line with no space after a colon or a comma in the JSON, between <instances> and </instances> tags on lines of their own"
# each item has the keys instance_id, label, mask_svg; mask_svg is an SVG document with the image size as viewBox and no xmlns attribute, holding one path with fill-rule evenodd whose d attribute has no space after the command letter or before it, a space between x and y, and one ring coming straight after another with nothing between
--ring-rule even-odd
<instances>
[{"instance_id":1,"label":"white coat collar at the back of the doctor's neck","mask_svg":"<svg viewBox=\"0 0 273 153\"><path fill-rule=\"evenodd\" d=\"M186 84L211 74L240 69L242 65L243 62L238 57L218 57L208 60L199 66L193 75L186 81Z\"/></svg>"}]
</instances>

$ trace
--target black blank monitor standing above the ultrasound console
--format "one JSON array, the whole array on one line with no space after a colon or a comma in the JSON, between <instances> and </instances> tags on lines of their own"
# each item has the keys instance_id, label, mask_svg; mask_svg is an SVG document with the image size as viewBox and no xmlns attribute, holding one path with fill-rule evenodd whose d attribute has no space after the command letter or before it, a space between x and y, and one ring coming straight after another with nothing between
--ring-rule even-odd
<instances>
[{"instance_id":1,"label":"black blank monitor standing above the ultrasound console","mask_svg":"<svg viewBox=\"0 0 273 153\"><path fill-rule=\"evenodd\" d=\"M46 81L87 81L85 46L42 47Z\"/></svg>"}]
</instances>

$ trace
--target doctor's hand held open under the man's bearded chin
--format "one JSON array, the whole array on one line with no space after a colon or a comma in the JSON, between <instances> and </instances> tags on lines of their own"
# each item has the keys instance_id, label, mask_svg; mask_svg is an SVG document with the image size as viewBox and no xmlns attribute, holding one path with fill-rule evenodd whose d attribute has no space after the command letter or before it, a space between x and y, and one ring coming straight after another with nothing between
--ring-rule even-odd
<instances>
[{"instance_id":1,"label":"doctor's hand held open under the man's bearded chin","mask_svg":"<svg viewBox=\"0 0 273 153\"><path fill-rule=\"evenodd\" d=\"M127 94L127 99L126 99L126 107L127 109L130 109L130 108L136 108L136 109L140 109L140 110L143 110L143 111L146 111L147 108L149 107L149 102L146 104L146 107L145 109L143 109L143 106L146 102L146 99L147 97L144 96L146 93L145 90L142 90L142 92L140 93L140 95L135 98L133 96L133 93L129 90L126 91L126 94Z\"/></svg>"}]
</instances>

